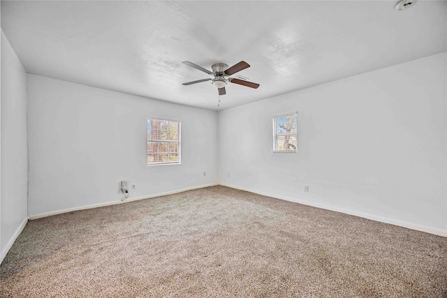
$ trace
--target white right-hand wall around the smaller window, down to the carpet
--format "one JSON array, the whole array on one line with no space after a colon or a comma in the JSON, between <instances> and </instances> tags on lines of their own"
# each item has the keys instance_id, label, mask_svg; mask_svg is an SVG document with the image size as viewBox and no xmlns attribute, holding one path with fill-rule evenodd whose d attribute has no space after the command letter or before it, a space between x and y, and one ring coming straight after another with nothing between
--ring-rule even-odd
<instances>
[{"instance_id":1,"label":"white right-hand wall around the smaller window, down to the carpet","mask_svg":"<svg viewBox=\"0 0 447 298\"><path fill-rule=\"evenodd\" d=\"M444 52L219 112L219 181L447 236L446 82ZM272 154L295 111L298 154Z\"/></svg>"}]
</instances>

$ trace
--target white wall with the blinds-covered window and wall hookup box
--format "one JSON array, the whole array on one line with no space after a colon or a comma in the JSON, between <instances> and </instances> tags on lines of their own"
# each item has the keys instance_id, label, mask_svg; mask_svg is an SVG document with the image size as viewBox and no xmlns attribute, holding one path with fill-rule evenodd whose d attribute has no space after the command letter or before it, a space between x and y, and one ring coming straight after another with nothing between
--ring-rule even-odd
<instances>
[{"instance_id":1,"label":"white wall with the blinds-covered window and wall hookup box","mask_svg":"<svg viewBox=\"0 0 447 298\"><path fill-rule=\"evenodd\" d=\"M217 184L217 112L27 75L29 215ZM182 164L147 166L147 117L182 121ZM203 177L203 172L207 172Z\"/></svg>"}]
</instances>

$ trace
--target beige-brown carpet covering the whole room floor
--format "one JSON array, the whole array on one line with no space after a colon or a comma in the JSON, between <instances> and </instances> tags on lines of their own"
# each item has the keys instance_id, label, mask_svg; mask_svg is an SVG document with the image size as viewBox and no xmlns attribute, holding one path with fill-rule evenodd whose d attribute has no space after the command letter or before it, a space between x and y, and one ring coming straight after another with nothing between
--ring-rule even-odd
<instances>
[{"instance_id":1,"label":"beige-brown carpet covering the whole room floor","mask_svg":"<svg viewBox=\"0 0 447 298\"><path fill-rule=\"evenodd\" d=\"M213 186L29 221L0 274L0 297L447 297L447 238Z\"/></svg>"}]
</instances>

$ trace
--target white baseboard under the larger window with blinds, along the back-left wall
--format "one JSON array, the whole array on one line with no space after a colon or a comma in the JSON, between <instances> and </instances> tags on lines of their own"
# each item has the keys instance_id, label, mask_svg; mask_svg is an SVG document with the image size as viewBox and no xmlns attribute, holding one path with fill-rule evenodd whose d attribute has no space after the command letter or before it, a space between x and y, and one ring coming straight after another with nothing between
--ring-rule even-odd
<instances>
[{"instance_id":1,"label":"white baseboard under the larger window with blinds, along the back-left wall","mask_svg":"<svg viewBox=\"0 0 447 298\"><path fill-rule=\"evenodd\" d=\"M145 199L150 199L150 198L156 198L156 197L161 197L162 195L173 195L175 193L182 193L184 191L191 191L193 189L205 188L205 187L217 186L217 185L218 185L217 183L212 183L212 184L205 184L205 185L200 185L200 186L192 186L192 187L189 187L189 188L178 189L176 191L168 191L166 193L156 193L154 195L145 195L145 196L142 196L142 197L128 198L126 200L104 202L104 203L99 203L99 204L91 204L91 205L87 205L87 206L81 206L81 207L74 207L74 208L69 208L69 209L62 209L62 210L57 210L57 211L45 212L45 213L41 213L41 214L34 214L34 215L29 216L29 220L32 221L32 220L37 219L37 218L43 218L43 217L47 217L47 216L53 216L53 215L63 214L63 213L72 212L72 211L79 211L79 210L85 210L85 209L105 207L105 206L111 206L111 205L116 205L116 204L123 204L123 203L126 203L126 202L133 202L133 201L138 201L138 200L145 200Z\"/></svg>"}]
</instances>

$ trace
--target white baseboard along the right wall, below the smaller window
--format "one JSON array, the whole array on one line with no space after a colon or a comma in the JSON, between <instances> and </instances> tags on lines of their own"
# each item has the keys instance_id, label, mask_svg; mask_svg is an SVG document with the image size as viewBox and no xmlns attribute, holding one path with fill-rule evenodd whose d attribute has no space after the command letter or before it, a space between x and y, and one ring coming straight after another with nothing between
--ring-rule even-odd
<instances>
[{"instance_id":1,"label":"white baseboard along the right wall, below the smaller window","mask_svg":"<svg viewBox=\"0 0 447 298\"><path fill-rule=\"evenodd\" d=\"M353 216L359 216L362 218L371 219L372 221L380 221L381 223L390 223L391 225L398 225L400 227L409 228L411 230L417 230L417 231L421 231L421 232L435 234L435 235L442 236L442 237L447 237L447 230L430 228L430 227L426 227L425 225L417 225L415 223L400 221L400 220L393 219L393 218L387 218L387 217L383 217L383 216L377 216L374 214L367 214L367 213L353 211L353 210L349 210L349 209L334 207L334 206L330 206L328 204L318 204L318 203L311 202L308 200L302 200L301 198L291 198L291 197L286 197L286 196L282 196L282 195L276 195L274 193L264 193L264 192L254 191L253 189L235 186L235 185L231 185L231 184L219 183L219 185L227 186L230 188L240 189L241 191L249 191L250 193L257 193L258 195L265 195L265 196L277 198L280 200L296 202L296 203L305 204L305 205L312 206L312 207L317 207L317 208L326 209L326 210L330 210L330 211L337 211L340 213L349 214L349 215L353 215Z\"/></svg>"}]
</instances>

